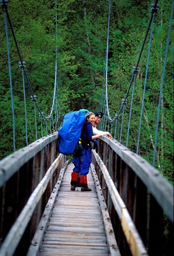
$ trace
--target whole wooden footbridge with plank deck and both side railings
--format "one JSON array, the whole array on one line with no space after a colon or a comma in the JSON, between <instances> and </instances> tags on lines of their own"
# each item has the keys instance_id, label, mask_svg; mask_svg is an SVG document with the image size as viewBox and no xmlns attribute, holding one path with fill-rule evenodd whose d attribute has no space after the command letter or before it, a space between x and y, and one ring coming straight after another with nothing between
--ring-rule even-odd
<instances>
[{"instance_id":1,"label":"whole wooden footbridge with plank deck and both side railings","mask_svg":"<svg viewBox=\"0 0 174 256\"><path fill-rule=\"evenodd\" d=\"M73 164L57 139L0 162L0 255L173 255L173 186L157 169L103 137L92 191L70 191Z\"/></svg>"}]
</instances>

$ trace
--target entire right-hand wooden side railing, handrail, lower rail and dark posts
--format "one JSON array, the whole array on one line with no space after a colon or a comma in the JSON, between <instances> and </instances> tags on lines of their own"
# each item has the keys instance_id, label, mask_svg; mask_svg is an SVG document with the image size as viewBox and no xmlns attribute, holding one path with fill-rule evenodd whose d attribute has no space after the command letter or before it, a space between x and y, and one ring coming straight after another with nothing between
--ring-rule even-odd
<instances>
[{"instance_id":1,"label":"entire right-hand wooden side railing, handrail, lower rail and dark posts","mask_svg":"<svg viewBox=\"0 0 174 256\"><path fill-rule=\"evenodd\" d=\"M93 163L121 254L173 255L173 185L107 137L100 139Z\"/></svg>"}]
</instances>

